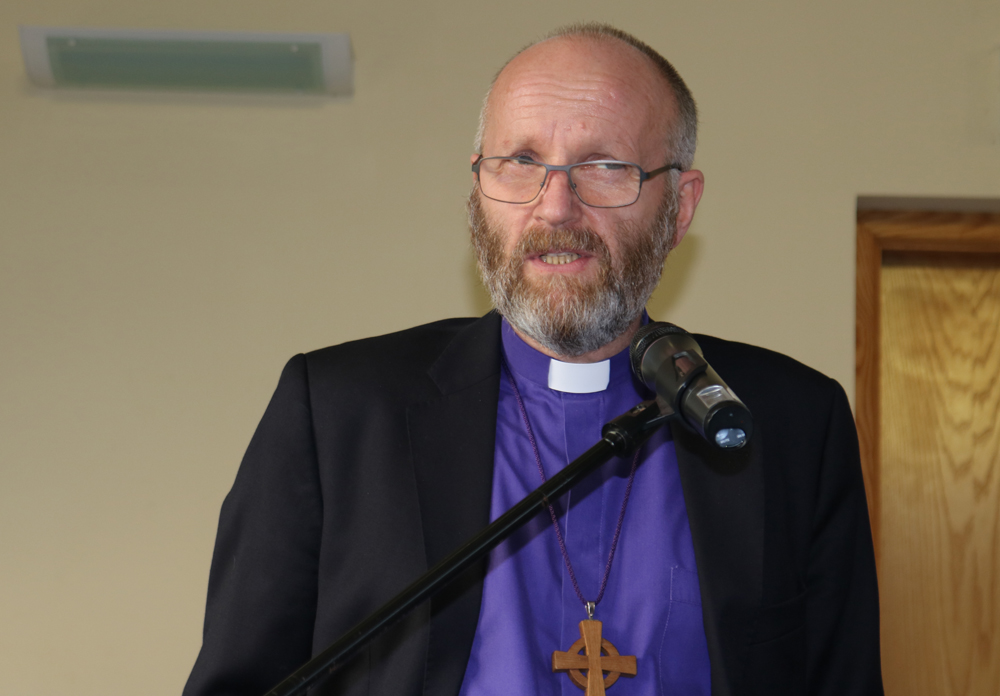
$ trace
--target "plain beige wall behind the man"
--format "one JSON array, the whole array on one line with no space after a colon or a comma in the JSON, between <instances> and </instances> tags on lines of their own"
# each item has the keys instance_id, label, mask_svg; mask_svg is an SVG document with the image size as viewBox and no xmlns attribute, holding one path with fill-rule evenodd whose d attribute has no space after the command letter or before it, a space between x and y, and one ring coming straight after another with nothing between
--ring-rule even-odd
<instances>
[{"instance_id":1,"label":"plain beige wall behind the man","mask_svg":"<svg viewBox=\"0 0 1000 696\"><path fill-rule=\"evenodd\" d=\"M578 19L637 32L701 107L707 190L656 318L852 392L856 197L1000 196L986 0L5 0L5 693L179 692L219 504L283 362L485 310L463 209L481 94ZM357 94L42 92L18 24L348 31Z\"/></svg>"}]
</instances>

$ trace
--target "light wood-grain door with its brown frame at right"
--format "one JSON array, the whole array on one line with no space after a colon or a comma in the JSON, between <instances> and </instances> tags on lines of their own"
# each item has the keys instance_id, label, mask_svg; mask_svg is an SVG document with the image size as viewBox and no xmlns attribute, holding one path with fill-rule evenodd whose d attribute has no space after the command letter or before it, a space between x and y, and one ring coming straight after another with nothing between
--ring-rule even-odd
<instances>
[{"instance_id":1,"label":"light wood-grain door with its brown frame at right","mask_svg":"<svg viewBox=\"0 0 1000 696\"><path fill-rule=\"evenodd\" d=\"M1000 215L858 218L857 418L888 696L1000 694Z\"/></svg>"}]
</instances>

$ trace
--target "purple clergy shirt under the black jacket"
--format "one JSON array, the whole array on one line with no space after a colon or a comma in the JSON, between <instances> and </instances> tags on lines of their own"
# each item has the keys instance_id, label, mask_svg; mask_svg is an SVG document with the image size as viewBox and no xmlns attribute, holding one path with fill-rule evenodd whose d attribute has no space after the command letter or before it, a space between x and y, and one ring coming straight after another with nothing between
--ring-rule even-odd
<instances>
[{"instance_id":1,"label":"purple clergy shirt under the black jacket","mask_svg":"<svg viewBox=\"0 0 1000 696\"><path fill-rule=\"evenodd\" d=\"M524 343L506 321L503 351L546 476L597 442L601 425L648 398L632 379L627 351L611 359L608 389L593 394L549 389L549 358ZM612 695L711 692L698 571L669 437L669 430L661 429L643 449L607 591L594 617L604 624L604 638L638 661L638 676L619 679ZM630 465L608 462L555 506L588 600L600 586ZM491 519L540 484L514 393L502 378ZM551 657L579 639L578 624L586 618L552 520L540 514L490 555L461 695L579 696L568 676L552 672Z\"/></svg>"}]
</instances>

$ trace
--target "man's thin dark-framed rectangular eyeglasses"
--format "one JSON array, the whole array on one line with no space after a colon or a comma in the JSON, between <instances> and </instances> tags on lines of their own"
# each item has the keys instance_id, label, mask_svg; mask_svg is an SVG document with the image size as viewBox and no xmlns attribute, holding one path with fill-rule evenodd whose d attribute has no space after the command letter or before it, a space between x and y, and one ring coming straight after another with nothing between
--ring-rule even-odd
<instances>
[{"instance_id":1,"label":"man's thin dark-framed rectangular eyeglasses","mask_svg":"<svg viewBox=\"0 0 1000 696\"><path fill-rule=\"evenodd\" d=\"M658 174L680 170L679 164L645 172L638 164L595 160L578 164L545 164L526 157L483 157L473 163L479 190L501 203L530 203L545 187L549 172L566 172L569 186L584 205L622 208L639 200L642 182Z\"/></svg>"}]
</instances>

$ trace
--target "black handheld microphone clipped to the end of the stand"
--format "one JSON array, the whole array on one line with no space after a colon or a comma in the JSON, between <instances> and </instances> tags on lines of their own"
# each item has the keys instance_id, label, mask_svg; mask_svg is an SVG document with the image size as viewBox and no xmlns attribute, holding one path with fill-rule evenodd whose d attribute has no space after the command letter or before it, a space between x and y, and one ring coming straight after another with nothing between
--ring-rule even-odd
<instances>
[{"instance_id":1,"label":"black handheld microphone clipped to the end of the stand","mask_svg":"<svg viewBox=\"0 0 1000 696\"><path fill-rule=\"evenodd\" d=\"M629 349L632 372L656 392L661 410L679 413L695 432L723 449L738 449L753 434L753 416L679 326L651 322ZM669 411L667 411L669 412Z\"/></svg>"}]
</instances>

